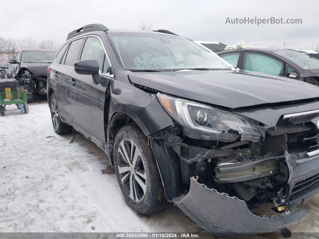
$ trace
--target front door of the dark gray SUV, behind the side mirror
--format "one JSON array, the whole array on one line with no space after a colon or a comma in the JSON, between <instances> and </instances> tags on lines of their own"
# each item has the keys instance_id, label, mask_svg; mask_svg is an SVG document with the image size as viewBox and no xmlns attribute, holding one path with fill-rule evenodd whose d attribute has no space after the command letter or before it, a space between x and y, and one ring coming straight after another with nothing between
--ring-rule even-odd
<instances>
[{"instance_id":1,"label":"front door of the dark gray SUV, behind the side mirror","mask_svg":"<svg viewBox=\"0 0 319 239\"><path fill-rule=\"evenodd\" d=\"M75 123L85 131L105 141L104 103L108 82L111 78L111 64L106 50L98 36L88 36L85 40L80 60L97 60L102 80L94 84L92 75L80 75L72 71L70 75L70 99Z\"/></svg>"}]
</instances>

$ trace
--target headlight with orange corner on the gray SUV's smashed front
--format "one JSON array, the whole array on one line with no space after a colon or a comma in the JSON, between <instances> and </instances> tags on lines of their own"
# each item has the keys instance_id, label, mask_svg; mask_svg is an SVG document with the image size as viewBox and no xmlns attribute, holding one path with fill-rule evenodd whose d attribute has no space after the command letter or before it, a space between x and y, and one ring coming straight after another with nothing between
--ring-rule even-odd
<instances>
[{"instance_id":1,"label":"headlight with orange corner on the gray SUV's smashed front","mask_svg":"<svg viewBox=\"0 0 319 239\"><path fill-rule=\"evenodd\" d=\"M246 117L161 93L157 98L191 138L231 142L241 136L241 140L256 142L261 136L256 124Z\"/></svg>"}]
</instances>

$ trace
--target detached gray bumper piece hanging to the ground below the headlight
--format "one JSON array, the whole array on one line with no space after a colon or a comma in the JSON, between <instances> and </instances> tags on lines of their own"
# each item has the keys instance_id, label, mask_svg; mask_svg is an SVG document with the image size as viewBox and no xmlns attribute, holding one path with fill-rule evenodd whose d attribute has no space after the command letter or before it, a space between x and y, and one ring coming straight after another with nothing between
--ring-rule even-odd
<instances>
[{"instance_id":1,"label":"detached gray bumper piece hanging to the ground below the headlight","mask_svg":"<svg viewBox=\"0 0 319 239\"><path fill-rule=\"evenodd\" d=\"M277 231L310 214L305 209L295 209L280 216L259 217L249 211L245 201L209 189L194 177L190 180L188 194L173 198L173 202L200 227L227 237Z\"/></svg>"}]
</instances>

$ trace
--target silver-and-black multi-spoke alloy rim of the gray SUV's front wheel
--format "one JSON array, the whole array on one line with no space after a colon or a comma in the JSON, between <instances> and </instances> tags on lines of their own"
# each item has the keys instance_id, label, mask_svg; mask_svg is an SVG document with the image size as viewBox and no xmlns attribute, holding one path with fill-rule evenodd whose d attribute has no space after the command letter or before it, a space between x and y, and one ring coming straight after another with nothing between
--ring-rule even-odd
<instances>
[{"instance_id":1,"label":"silver-and-black multi-spoke alloy rim of the gray SUV's front wheel","mask_svg":"<svg viewBox=\"0 0 319 239\"><path fill-rule=\"evenodd\" d=\"M144 160L131 139L125 138L121 141L118 148L117 164L126 193L133 201L142 201L147 185Z\"/></svg>"}]
</instances>

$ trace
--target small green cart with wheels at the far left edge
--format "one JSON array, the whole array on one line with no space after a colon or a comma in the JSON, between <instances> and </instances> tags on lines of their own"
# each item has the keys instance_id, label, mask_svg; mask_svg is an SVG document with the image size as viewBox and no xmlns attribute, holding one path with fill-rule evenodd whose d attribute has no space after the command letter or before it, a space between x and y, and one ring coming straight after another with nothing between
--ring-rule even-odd
<instances>
[{"instance_id":1,"label":"small green cart with wheels at the far left edge","mask_svg":"<svg viewBox=\"0 0 319 239\"><path fill-rule=\"evenodd\" d=\"M0 116L4 116L5 107L15 104L18 109L27 114L27 93L25 90L0 92Z\"/></svg>"}]
</instances>

